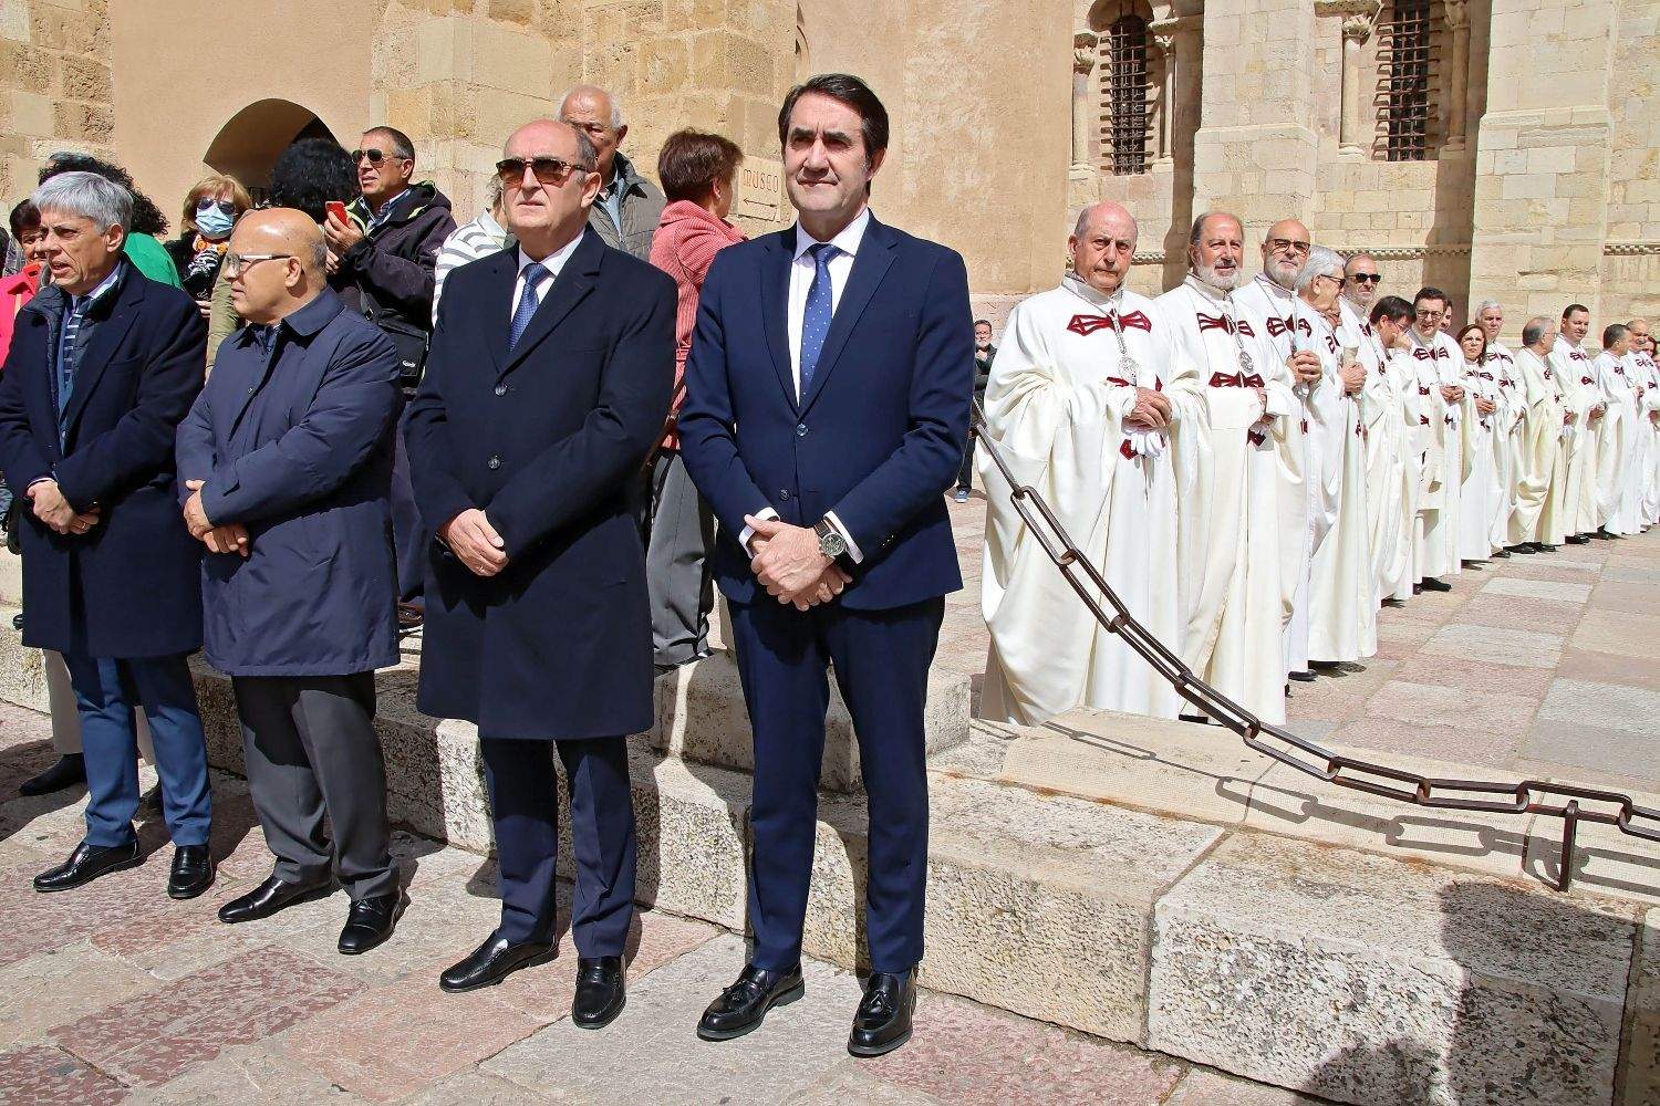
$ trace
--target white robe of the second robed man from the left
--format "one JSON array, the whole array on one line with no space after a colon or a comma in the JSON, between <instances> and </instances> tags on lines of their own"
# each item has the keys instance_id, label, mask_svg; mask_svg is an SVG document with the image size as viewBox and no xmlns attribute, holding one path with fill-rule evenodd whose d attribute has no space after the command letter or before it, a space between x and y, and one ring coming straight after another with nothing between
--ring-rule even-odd
<instances>
[{"instance_id":1,"label":"white robe of the second robed man from the left","mask_svg":"<svg viewBox=\"0 0 1660 1106\"><path fill-rule=\"evenodd\" d=\"M1288 426L1298 406L1290 371L1227 293L1189 277L1154 303L1199 370L1205 413L1204 448L1192 454L1199 469L1184 479L1177 501L1187 607L1182 660L1263 721L1282 723L1282 642L1295 579L1283 572L1280 499L1301 496L1286 478L1301 464L1300 434L1293 438Z\"/></svg>"}]
</instances>

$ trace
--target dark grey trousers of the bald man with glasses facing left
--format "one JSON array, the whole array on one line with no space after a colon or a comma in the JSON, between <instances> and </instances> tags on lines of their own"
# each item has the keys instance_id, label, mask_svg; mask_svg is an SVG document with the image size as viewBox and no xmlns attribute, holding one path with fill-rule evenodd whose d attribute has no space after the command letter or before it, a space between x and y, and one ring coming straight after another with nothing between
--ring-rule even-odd
<instances>
[{"instance_id":1,"label":"dark grey trousers of the bald man with glasses facing left","mask_svg":"<svg viewBox=\"0 0 1660 1106\"><path fill-rule=\"evenodd\" d=\"M398 890L387 822L387 766L375 736L375 673L232 677L247 786L295 884L340 879L352 902ZM334 841L324 831L324 816Z\"/></svg>"}]
</instances>

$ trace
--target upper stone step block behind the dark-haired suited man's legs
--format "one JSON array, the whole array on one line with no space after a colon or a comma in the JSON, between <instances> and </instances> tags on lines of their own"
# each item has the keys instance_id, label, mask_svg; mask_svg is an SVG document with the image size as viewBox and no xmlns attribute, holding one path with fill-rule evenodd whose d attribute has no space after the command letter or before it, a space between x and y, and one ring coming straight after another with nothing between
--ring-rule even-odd
<instances>
[{"instance_id":1,"label":"upper stone step block behind the dark-haired suited man's legs","mask_svg":"<svg viewBox=\"0 0 1660 1106\"><path fill-rule=\"evenodd\" d=\"M941 753L968 736L966 677L935 668L923 715L926 748ZM744 688L730 653L682 665L657 680L657 723L649 743L671 756L737 771L754 771L755 754ZM835 682L825 718L825 758L820 783L827 791L860 788L858 741L853 720Z\"/></svg>"}]
</instances>

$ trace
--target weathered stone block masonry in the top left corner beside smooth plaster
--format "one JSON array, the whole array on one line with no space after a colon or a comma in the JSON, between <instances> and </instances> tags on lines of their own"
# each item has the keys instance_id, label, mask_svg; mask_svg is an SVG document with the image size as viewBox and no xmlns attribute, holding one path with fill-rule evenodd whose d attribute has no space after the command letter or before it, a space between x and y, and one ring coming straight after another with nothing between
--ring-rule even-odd
<instances>
[{"instance_id":1,"label":"weathered stone block masonry in the top left corner beside smooth plaster","mask_svg":"<svg viewBox=\"0 0 1660 1106\"><path fill-rule=\"evenodd\" d=\"M111 85L108 0L0 0L0 197L55 149L113 154Z\"/></svg>"}]
</instances>

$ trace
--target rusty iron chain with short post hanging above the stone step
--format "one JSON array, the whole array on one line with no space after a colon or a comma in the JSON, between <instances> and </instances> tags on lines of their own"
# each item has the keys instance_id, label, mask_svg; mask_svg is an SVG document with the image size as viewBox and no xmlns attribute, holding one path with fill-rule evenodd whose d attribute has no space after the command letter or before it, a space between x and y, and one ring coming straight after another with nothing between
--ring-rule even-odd
<instances>
[{"instance_id":1,"label":"rusty iron chain with short post hanging above the stone step","mask_svg":"<svg viewBox=\"0 0 1660 1106\"><path fill-rule=\"evenodd\" d=\"M969 433L979 439L993 464L1003 474L1014 501L1014 511L1049 554L1056 569L1077 592L1079 600L1096 620L1119 635L1142 660L1154 667L1175 691L1202 710L1208 718L1227 726L1245 745L1296 771L1351 788L1368 794L1396 799L1413 806L1443 811L1479 811L1496 814L1545 814L1562 819L1562 856L1557 890L1567 890L1572 880L1574 842L1580 822L1614 826L1622 834L1660 842L1660 811L1652 811L1632 801L1628 794L1602 791L1579 784L1522 779L1519 783L1487 783L1481 779L1436 779L1419 773L1391 768L1378 761L1363 761L1335 753L1318 741L1310 741L1280 726L1270 725L1217 691L1194 675L1192 668L1170 648L1135 620L1119 597L1107 587L1101 570L1072 544L1061 519L1029 484L1018 484L1003 453L986 433L986 416L979 403L973 405ZM1099 595L1099 599L1097 599ZM1102 607L1106 602L1106 607ZM1109 610L1111 609L1111 614Z\"/></svg>"}]
</instances>

